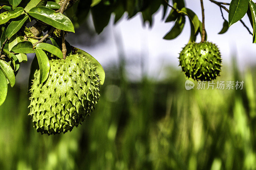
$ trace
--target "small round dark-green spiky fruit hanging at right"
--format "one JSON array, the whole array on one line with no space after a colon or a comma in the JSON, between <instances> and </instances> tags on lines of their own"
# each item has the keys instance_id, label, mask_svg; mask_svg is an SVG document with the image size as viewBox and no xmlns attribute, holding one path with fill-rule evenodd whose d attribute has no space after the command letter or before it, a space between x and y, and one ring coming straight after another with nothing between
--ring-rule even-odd
<instances>
[{"instance_id":1,"label":"small round dark-green spiky fruit hanging at right","mask_svg":"<svg viewBox=\"0 0 256 170\"><path fill-rule=\"evenodd\" d=\"M180 52L180 66L188 78L210 81L220 76L220 50L212 42L190 42Z\"/></svg>"}]
</instances>

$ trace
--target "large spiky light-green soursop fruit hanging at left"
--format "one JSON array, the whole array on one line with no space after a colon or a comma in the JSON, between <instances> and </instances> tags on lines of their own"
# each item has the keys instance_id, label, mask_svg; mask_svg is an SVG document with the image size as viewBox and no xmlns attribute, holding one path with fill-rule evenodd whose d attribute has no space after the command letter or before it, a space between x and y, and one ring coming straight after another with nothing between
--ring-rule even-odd
<instances>
[{"instance_id":1,"label":"large spiky light-green soursop fruit hanging at left","mask_svg":"<svg viewBox=\"0 0 256 170\"><path fill-rule=\"evenodd\" d=\"M71 131L90 115L100 97L96 67L84 56L50 60L48 79L39 83L36 70L31 86L31 119L37 132L58 134Z\"/></svg>"}]
</instances>

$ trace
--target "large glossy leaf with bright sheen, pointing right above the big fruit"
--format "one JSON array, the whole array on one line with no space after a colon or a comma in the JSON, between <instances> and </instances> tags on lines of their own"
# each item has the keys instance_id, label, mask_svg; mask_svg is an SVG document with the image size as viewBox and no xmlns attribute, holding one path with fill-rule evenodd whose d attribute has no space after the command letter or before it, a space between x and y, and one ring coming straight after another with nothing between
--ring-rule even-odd
<instances>
[{"instance_id":1,"label":"large glossy leaf with bright sheen, pointing right above the big fruit","mask_svg":"<svg viewBox=\"0 0 256 170\"><path fill-rule=\"evenodd\" d=\"M29 10L28 14L60 30L75 32L74 26L67 16L60 12L56 13L50 8L37 6Z\"/></svg>"}]
</instances>

